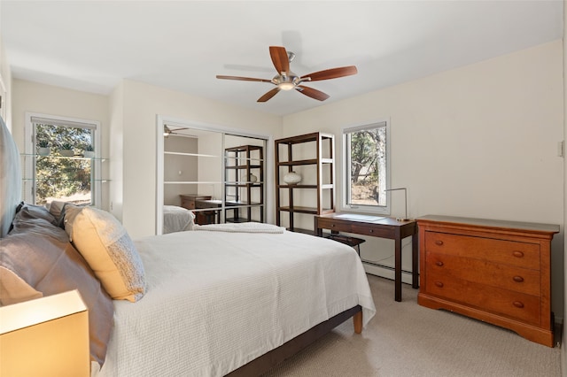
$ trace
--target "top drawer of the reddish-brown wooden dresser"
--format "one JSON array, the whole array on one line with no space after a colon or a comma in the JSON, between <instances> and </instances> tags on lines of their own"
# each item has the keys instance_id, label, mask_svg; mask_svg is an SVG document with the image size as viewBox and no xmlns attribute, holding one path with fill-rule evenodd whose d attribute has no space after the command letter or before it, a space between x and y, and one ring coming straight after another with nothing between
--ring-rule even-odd
<instances>
[{"instance_id":1,"label":"top drawer of the reddish-brown wooden dresser","mask_svg":"<svg viewBox=\"0 0 567 377\"><path fill-rule=\"evenodd\" d=\"M540 269L540 245L470 235L425 232L425 250L458 257L478 258L495 263Z\"/></svg>"}]
</instances>

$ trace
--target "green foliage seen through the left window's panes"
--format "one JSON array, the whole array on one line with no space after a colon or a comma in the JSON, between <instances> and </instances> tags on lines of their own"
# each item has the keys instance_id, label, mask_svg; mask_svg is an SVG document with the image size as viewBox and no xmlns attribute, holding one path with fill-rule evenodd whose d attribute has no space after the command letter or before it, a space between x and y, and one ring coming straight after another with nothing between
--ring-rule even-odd
<instances>
[{"instance_id":1,"label":"green foliage seen through the left window's panes","mask_svg":"<svg viewBox=\"0 0 567 377\"><path fill-rule=\"evenodd\" d=\"M50 142L58 149L86 150L92 145L91 131L78 127L35 125L38 145ZM58 153L37 158L36 204L44 204L48 197L66 197L90 192L92 161L76 158L58 158Z\"/></svg>"}]
</instances>

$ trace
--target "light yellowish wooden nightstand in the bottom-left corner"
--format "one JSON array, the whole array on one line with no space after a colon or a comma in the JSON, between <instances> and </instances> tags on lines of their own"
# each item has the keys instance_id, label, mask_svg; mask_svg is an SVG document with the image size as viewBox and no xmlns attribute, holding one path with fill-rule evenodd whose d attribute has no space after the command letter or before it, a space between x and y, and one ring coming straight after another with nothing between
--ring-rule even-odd
<instances>
[{"instance_id":1,"label":"light yellowish wooden nightstand in the bottom-left corner","mask_svg":"<svg viewBox=\"0 0 567 377\"><path fill-rule=\"evenodd\" d=\"M89 312L77 290L0 307L0 375L89 376Z\"/></svg>"}]
</instances>

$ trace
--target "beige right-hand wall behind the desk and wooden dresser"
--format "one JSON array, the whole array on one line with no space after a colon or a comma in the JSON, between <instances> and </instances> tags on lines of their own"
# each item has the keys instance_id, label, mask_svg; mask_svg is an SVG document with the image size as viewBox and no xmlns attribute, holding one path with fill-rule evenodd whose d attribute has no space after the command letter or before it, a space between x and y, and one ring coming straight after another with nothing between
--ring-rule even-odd
<instances>
[{"instance_id":1,"label":"beige right-hand wall behind the desk and wooden dresser","mask_svg":"<svg viewBox=\"0 0 567 377\"><path fill-rule=\"evenodd\" d=\"M392 187L408 214L562 226L553 242L553 310L563 317L563 48L550 42L283 118L286 135L391 120ZM341 140L338 137L338 167ZM337 174L341 176L340 171ZM338 189L338 193L342 192ZM394 215L403 202L393 202ZM369 239L364 257L389 258ZM378 251L374 251L374 250ZM404 267L410 269L410 248ZM407 257L406 257L407 256Z\"/></svg>"}]
</instances>

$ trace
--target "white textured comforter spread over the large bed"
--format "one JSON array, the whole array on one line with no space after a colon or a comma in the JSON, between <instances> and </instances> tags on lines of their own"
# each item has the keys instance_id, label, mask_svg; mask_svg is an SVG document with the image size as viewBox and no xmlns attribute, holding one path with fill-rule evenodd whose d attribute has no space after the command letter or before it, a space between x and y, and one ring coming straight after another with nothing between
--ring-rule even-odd
<instances>
[{"instance_id":1,"label":"white textured comforter spread over the large bed","mask_svg":"<svg viewBox=\"0 0 567 377\"><path fill-rule=\"evenodd\" d=\"M361 304L375 312L356 252L283 232L182 232L136 242L147 293L115 301L99 376L221 376Z\"/></svg>"}]
</instances>

